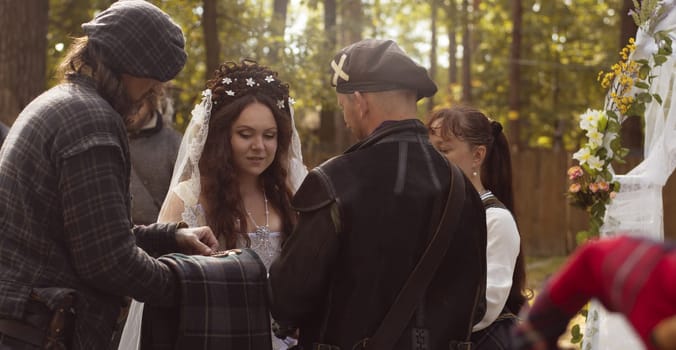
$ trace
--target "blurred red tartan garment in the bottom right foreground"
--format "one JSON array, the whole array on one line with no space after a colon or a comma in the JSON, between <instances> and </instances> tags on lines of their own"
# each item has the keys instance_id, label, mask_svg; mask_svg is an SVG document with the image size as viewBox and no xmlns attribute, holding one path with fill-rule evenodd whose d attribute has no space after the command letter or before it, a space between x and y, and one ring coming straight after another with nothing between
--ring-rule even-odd
<instances>
[{"instance_id":1,"label":"blurred red tartan garment in the bottom right foreground","mask_svg":"<svg viewBox=\"0 0 676 350\"><path fill-rule=\"evenodd\" d=\"M517 330L517 348L555 347L570 318L596 298L608 310L622 313L645 346L655 349L650 341L653 328L676 315L674 248L627 236L582 246L538 296Z\"/></svg>"}]
</instances>

